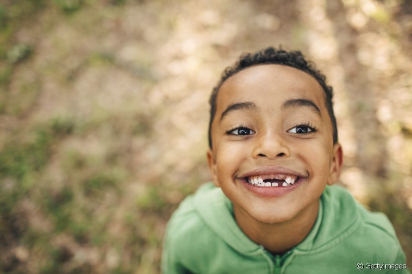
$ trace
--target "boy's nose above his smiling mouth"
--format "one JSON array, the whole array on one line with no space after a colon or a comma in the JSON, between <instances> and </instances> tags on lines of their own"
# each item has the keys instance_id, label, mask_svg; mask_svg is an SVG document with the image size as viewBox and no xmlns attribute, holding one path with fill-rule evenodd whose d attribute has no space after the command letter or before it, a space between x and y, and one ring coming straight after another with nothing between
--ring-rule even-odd
<instances>
[{"instance_id":1,"label":"boy's nose above his smiling mouth","mask_svg":"<svg viewBox=\"0 0 412 274\"><path fill-rule=\"evenodd\" d=\"M280 134L266 132L255 139L253 158L275 159L290 156L290 149Z\"/></svg>"}]
</instances>

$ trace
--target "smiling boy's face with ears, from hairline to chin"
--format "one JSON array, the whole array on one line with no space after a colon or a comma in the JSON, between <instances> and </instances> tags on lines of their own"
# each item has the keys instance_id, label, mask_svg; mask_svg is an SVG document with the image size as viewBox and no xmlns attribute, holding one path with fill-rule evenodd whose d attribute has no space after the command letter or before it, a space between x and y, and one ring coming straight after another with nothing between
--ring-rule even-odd
<instances>
[{"instance_id":1,"label":"smiling boy's face with ears, from hairline to chin","mask_svg":"<svg viewBox=\"0 0 412 274\"><path fill-rule=\"evenodd\" d=\"M342 149L333 144L324 91L311 75L282 65L250 67L223 83L216 104L209 168L235 212L288 221L314 208L338 179ZM256 185L262 180L271 186Z\"/></svg>"}]
</instances>

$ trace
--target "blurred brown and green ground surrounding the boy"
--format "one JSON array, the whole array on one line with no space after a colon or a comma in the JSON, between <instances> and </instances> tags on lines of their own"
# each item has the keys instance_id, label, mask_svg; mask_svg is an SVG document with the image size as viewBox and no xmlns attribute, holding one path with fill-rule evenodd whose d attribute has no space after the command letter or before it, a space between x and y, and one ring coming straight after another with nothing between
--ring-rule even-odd
<instances>
[{"instance_id":1,"label":"blurred brown and green ground surrounding the boy","mask_svg":"<svg viewBox=\"0 0 412 274\"><path fill-rule=\"evenodd\" d=\"M279 45L327 75L340 184L412 266L411 0L2 0L0 272L159 273L170 214L210 180L212 88Z\"/></svg>"}]
</instances>

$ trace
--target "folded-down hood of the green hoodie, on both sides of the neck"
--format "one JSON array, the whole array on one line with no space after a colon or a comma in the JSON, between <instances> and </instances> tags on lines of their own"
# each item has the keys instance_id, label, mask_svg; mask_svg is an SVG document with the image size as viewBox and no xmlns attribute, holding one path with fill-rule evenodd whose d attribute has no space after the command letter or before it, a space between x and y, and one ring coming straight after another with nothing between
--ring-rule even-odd
<instances>
[{"instance_id":1,"label":"folded-down hood of the green hoodie, on both sides of the neck","mask_svg":"<svg viewBox=\"0 0 412 274\"><path fill-rule=\"evenodd\" d=\"M338 191L331 191L331 188L338 188ZM339 195L345 196L344 199L339 199ZM243 254L259 251L260 246L239 228L234 218L233 204L221 188L211 183L201 186L194 196L194 207L204 223L229 246ZM307 252L325 247L333 243L334 239L342 238L345 232L348 234L352 231L359 219L352 196L341 187L327 186L320 198L314 226L293 249Z\"/></svg>"}]
</instances>

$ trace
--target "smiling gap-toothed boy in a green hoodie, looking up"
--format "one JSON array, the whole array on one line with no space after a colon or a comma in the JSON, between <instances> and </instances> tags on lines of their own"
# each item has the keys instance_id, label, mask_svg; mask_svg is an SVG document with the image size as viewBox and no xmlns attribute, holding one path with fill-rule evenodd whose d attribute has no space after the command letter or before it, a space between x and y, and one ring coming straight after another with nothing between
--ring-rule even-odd
<instances>
[{"instance_id":1,"label":"smiling gap-toothed boy in a green hoodie, looking up","mask_svg":"<svg viewBox=\"0 0 412 274\"><path fill-rule=\"evenodd\" d=\"M225 70L210 100L214 185L170 219L163 273L409 273L388 219L332 186L343 154L325 81L274 48Z\"/></svg>"}]
</instances>

